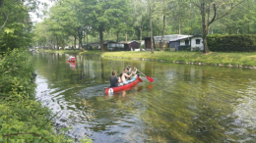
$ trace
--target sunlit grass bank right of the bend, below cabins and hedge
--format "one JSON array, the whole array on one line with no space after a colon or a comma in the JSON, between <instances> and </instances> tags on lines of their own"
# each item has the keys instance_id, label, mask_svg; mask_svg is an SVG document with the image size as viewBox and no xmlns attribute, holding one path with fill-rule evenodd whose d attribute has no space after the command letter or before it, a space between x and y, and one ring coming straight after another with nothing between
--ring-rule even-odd
<instances>
[{"instance_id":1,"label":"sunlit grass bank right of the bend, below cabins and hedge","mask_svg":"<svg viewBox=\"0 0 256 143\"><path fill-rule=\"evenodd\" d=\"M107 52L103 57L122 57L160 62L208 64L223 66L256 66L256 53L218 53L203 54L199 52Z\"/></svg>"}]
</instances>

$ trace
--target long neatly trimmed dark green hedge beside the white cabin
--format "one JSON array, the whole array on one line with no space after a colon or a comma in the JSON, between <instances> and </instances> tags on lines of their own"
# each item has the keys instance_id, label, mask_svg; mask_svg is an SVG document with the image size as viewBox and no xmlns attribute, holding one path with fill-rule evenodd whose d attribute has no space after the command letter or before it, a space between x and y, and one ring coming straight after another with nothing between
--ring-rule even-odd
<instances>
[{"instance_id":1,"label":"long neatly trimmed dark green hedge beside the white cabin","mask_svg":"<svg viewBox=\"0 0 256 143\"><path fill-rule=\"evenodd\" d=\"M213 52L256 51L256 35L209 35L207 43Z\"/></svg>"}]
</instances>

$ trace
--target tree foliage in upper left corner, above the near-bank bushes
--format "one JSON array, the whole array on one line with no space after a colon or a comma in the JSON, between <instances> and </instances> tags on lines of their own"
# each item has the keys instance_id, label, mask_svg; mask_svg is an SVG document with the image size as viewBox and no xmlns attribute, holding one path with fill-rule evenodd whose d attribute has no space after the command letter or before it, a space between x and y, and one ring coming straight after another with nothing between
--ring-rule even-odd
<instances>
[{"instance_id":1,"label":"tree foliage in upper left corner, above the near-bank bushes","mask_svg":"<svg viewBox=\"0 0 256 143\"><path fill-rule=\"evenodd\" d=\"M8 48L30 46L32 23L28 11L32 10L33 3L36 2L33 0L26 2L28 2L28 7L23 1L0 1L0 52Z\"/></svg>"}]
</instances>

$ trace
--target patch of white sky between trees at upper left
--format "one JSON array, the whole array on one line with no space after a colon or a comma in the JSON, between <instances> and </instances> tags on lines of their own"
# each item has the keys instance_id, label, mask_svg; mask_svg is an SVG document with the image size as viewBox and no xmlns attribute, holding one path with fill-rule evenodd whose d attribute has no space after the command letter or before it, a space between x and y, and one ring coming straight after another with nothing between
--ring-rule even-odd
<instances>
[{"instance_id":1,"label":"patch of white sky between trees at upper left","mask_svg":"<svg viewBox=\"0 0 256 143\"><path fill-rule=\"evenodd\" d=\"M54 4L54 2L52 2L53 0L38 0L38 1L41 3L48 4L48 10ZM43 10L43 6L39 5L39 9L36 11L36 13L39 13L40 15L42 15L42 10ZM32 18L32 23L40 23L43 20L43 18L37 18L34 12L30 12L30 15Z\"/></svg>"}]
</instances>

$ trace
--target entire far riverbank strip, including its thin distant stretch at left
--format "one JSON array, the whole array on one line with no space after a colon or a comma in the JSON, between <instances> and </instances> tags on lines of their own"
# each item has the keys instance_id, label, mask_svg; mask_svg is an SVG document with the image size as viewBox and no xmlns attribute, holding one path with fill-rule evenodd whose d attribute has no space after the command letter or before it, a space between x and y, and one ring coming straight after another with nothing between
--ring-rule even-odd
<instances>
[{"instance_id":1,"label":"entire far riverbank strip, including its thin distant stretch at left","mask_svg":"<svg viewBox=\"0 0 256 143\"><path fill-rule=\"evenodd\" d=\"M59 53L63 50L47 50L43 52ZM65 50L63 53L70 53L70 50ZM247 68L256 70L256 53L221 53L212 52L204 54L200 52L162 52L155 51L152 54L149 51L134 52L134 51L121 51L121 52L100 52L100 51L72 51L77 54L94 55L104 58L116 59L132 59L143 61L156 61L165 63L177 64L193 64L193 65L210 65L219 67L236 67Z\"/></svg>"}]
</instances>

